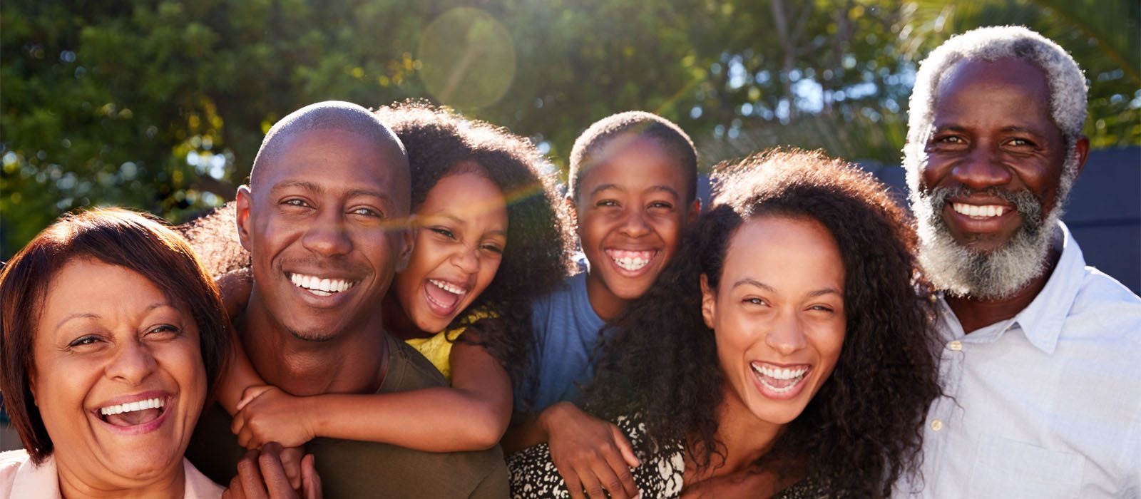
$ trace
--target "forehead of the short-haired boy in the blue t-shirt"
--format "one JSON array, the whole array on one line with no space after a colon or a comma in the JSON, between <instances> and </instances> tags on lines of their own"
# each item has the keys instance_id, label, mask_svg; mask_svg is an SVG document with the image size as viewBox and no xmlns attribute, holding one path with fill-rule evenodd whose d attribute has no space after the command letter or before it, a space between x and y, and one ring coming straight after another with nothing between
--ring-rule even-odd
<instances>
[{"instance_id":1,"label":"forehead of the short-haired boy in the blue t-shirt","mask_svg":"<svg viewBox=\"0 0 1141 499\"><path fill-rule=\"evenodd\" d=\"M613 185L628 191L669 187L685 195L688 187L679 158L657 139L617 137L599 150L582 178L581 190L589 196L598 186Z\"/></svg>"}]
</instances>

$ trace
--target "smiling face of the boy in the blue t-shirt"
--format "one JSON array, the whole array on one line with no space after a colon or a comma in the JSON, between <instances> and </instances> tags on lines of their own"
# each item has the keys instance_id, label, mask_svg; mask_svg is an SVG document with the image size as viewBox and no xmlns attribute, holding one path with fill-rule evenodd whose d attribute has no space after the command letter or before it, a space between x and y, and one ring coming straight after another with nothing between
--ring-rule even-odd
<instances>
[{"instance_id":1,"label":"smiling face of the boy in the blue t-shirt","mask_svg":"<svg viewBox=\"0 0 1141 499\"><path fill-rule=\"evenodd\" d=\"M574 208L590 261L590 303L606 319L646 293L698 202L686 199L689 180L656 140L612 140L600 155L606 158L583 175Z\"/></svg>"}]
</instances>

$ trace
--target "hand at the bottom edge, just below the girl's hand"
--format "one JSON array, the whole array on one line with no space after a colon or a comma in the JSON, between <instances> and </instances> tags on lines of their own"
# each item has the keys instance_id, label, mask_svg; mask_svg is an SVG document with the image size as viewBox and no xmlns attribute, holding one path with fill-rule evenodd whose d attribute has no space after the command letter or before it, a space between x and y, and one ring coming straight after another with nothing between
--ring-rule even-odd
<instances>
[{"instance_id":1,"label":"hand at the bottom edge, just below the girl's hand","mask_svg":"<svg viewBox=\"0 0 1141 499\"><path fill-rule=\"evenodd\" d=\"M301 459L301 493L293 489L281 461L282 447L269 442L251 450L237 463L237 476L229 481L222 499L321 499L321 477L313 455Z\"/></svg>"}]
</instances>

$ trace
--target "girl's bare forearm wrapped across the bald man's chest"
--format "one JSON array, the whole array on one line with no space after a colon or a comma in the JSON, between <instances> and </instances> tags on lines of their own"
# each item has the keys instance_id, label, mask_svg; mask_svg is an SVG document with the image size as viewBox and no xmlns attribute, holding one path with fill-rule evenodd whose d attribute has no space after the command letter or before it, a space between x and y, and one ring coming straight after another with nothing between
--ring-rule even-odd
<instances>
[{"instance_id":1,"label":"girl's bare forearm wrapped across the bald man's chest","mask_svg":"<svg viewBox=\"0 0 1141 499\"><path fill-rule=\"evenodd\" d=\"M371 395L307 398L316 436L385 442L429 452L494 447L510 420L511 401L436 387Z\"/></svg>"}]
</instances>

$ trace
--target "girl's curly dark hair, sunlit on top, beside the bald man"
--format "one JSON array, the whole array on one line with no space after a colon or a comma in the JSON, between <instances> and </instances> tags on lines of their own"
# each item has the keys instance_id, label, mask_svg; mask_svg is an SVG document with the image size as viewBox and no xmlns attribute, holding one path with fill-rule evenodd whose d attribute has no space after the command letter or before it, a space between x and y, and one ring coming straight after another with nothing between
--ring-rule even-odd
<instances>
[{"instance_id":1,"label":"girl's curly dark hair, sunlit on top, beside the bald man","mask_svg":"<svg viewBox=\"0 0 1141 499\"><path fill-rule=\"evenodd\" d=\"M412 211L440 179L459 173L486 177L507 198L508 234L495 277L470 305L487 306L499 319L471 325L478 343L511 375L518 388L529 362L531 301L550 293L569 272L570 223L544 159L526 139L507 129L470 120L447 107L406 101L377 111L407 149ZM451 327L463 325L461 313ZM432 332L435 333L435 332Z\"/></svg>"}]
</instances>

